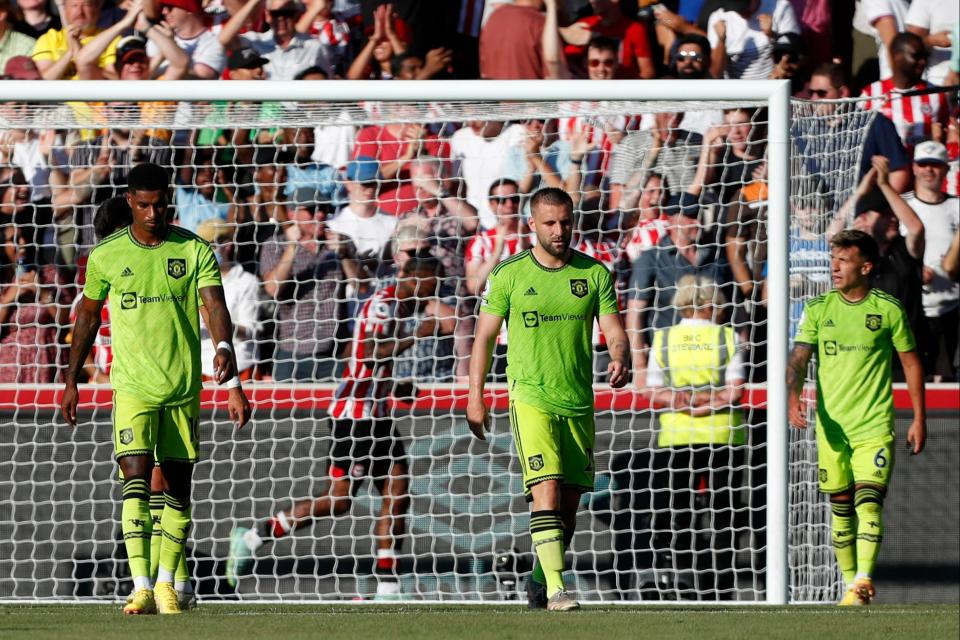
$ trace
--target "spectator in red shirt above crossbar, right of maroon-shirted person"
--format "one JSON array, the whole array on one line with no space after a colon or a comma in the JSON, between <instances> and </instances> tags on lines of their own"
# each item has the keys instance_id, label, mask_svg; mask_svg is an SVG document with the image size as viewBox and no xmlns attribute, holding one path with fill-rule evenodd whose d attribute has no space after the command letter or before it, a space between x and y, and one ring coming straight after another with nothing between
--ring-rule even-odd
<instances>
[{"instance_id":1,"label":"spectator in red shirt above crossbar, right of maroon-shirted person","mask_svg":"<svg viewBox=\"0 0 960 640\"><path fill-rule=\"evenodd\" d=\"M656 75L647 29L626 15L620 0L591 0L593 15L574 22L560 30L566 40L565 53L569 58L582 58L583 45L592 35L604 36L620 42L620 78L649 79Z\"/></svg>"}]
</instances>

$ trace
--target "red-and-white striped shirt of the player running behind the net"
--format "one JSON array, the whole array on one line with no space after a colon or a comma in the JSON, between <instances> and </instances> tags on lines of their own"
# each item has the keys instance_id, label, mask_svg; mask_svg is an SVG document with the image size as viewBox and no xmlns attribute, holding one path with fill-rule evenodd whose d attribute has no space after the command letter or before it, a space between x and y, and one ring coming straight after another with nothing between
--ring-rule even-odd
<instances>
[{"instance_id":1,"label":"red-and-white striped shirt of the player running behind the net","mask_svg":"<svg viewBox=\"0 0 960 640\"><path fill-rule=\"evenodd\" d=\"M339 420L383 418L387 415L392 363L371 366L367 347L377 338L392 338L397 321L397 285L374 292L360 309L353 331L353 352L344 380L333 394L330 415ZM373 339L372 343L367 341Z\"/></svg>"}]
</instances>

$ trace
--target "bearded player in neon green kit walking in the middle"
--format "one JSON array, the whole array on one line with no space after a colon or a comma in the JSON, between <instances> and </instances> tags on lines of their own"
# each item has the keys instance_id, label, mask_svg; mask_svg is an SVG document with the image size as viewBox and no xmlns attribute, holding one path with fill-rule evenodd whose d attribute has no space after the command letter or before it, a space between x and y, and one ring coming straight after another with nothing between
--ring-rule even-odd
<instances>
[{"instance_id":1,"label":"bearded player in neon green kit walking in the middle","mask_svg":"<svg viewBox=\"0 0 960 640\"><path fill-rule=\"evenodd\" d=\"M501 262L487 280L470 361L467 423L485 439L484 381L506 320L510 425L524 493L532 503L536 552L528 605L567 611L580 605L564 589L563 553L573 539L580 495L593 489L594 318L606 336L607 376L614 388L629 378L628 343L610 271L570 248L570 196L561 189L541 189L530 210L537 244Z\"/></svg>"}]
</instances>

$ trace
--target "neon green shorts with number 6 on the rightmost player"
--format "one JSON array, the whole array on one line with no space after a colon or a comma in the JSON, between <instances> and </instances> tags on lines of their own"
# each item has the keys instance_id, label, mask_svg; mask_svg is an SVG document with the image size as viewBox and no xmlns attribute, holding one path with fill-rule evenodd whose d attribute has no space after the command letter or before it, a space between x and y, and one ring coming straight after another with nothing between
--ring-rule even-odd
<instances>
[{"instance_id":1,"label":"neon green shorts with number 6 on the rightmost player","mask_svg":"<svg viewBox=\"0 0 960 640\"><path fill-rule=\"evenodd\" d=\"M893 474L892 433L850 442L842 433L817 427L817 466L820 491L842 493L857 484L887 487Z\"/></svg>"}]
</instances>

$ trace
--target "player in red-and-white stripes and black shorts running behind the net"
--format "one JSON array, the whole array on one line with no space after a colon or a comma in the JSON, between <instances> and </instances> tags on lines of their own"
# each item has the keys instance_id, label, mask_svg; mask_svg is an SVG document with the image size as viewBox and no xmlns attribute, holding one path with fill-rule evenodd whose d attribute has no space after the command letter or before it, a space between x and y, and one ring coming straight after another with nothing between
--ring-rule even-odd
<instances>
[{"instance_id":1,"label":"player in red-and-white stripes and black shorts running behind the net","mask_svg":"<svg viewBox=\"0 0 960 640\"><path fill-rule=\"evenodd\" d=\"M234 528L227 559L230 586L235 587L239 577L250 571L254 552L266 542L291 533L312 518L347 513L364 478L369 477L383 498L374 530L377 595L400 593L396 564L410 506L409 465L390 418L387 396L391 392L395 396L411 394L398 390L401 385L390 379L394 356L417 339L453 333L456 318L450 311L441 311L449 308L435 298L442 276L443 267L436 258L409 258L396 282L381 287L364 303L354 326L353 352L344 380L328 410L333 418L333 443L326 494L301 500L254 528ZM406 333L405 321L420 311L426 317L413 333Z\"/></svg>"}]
</instances>

